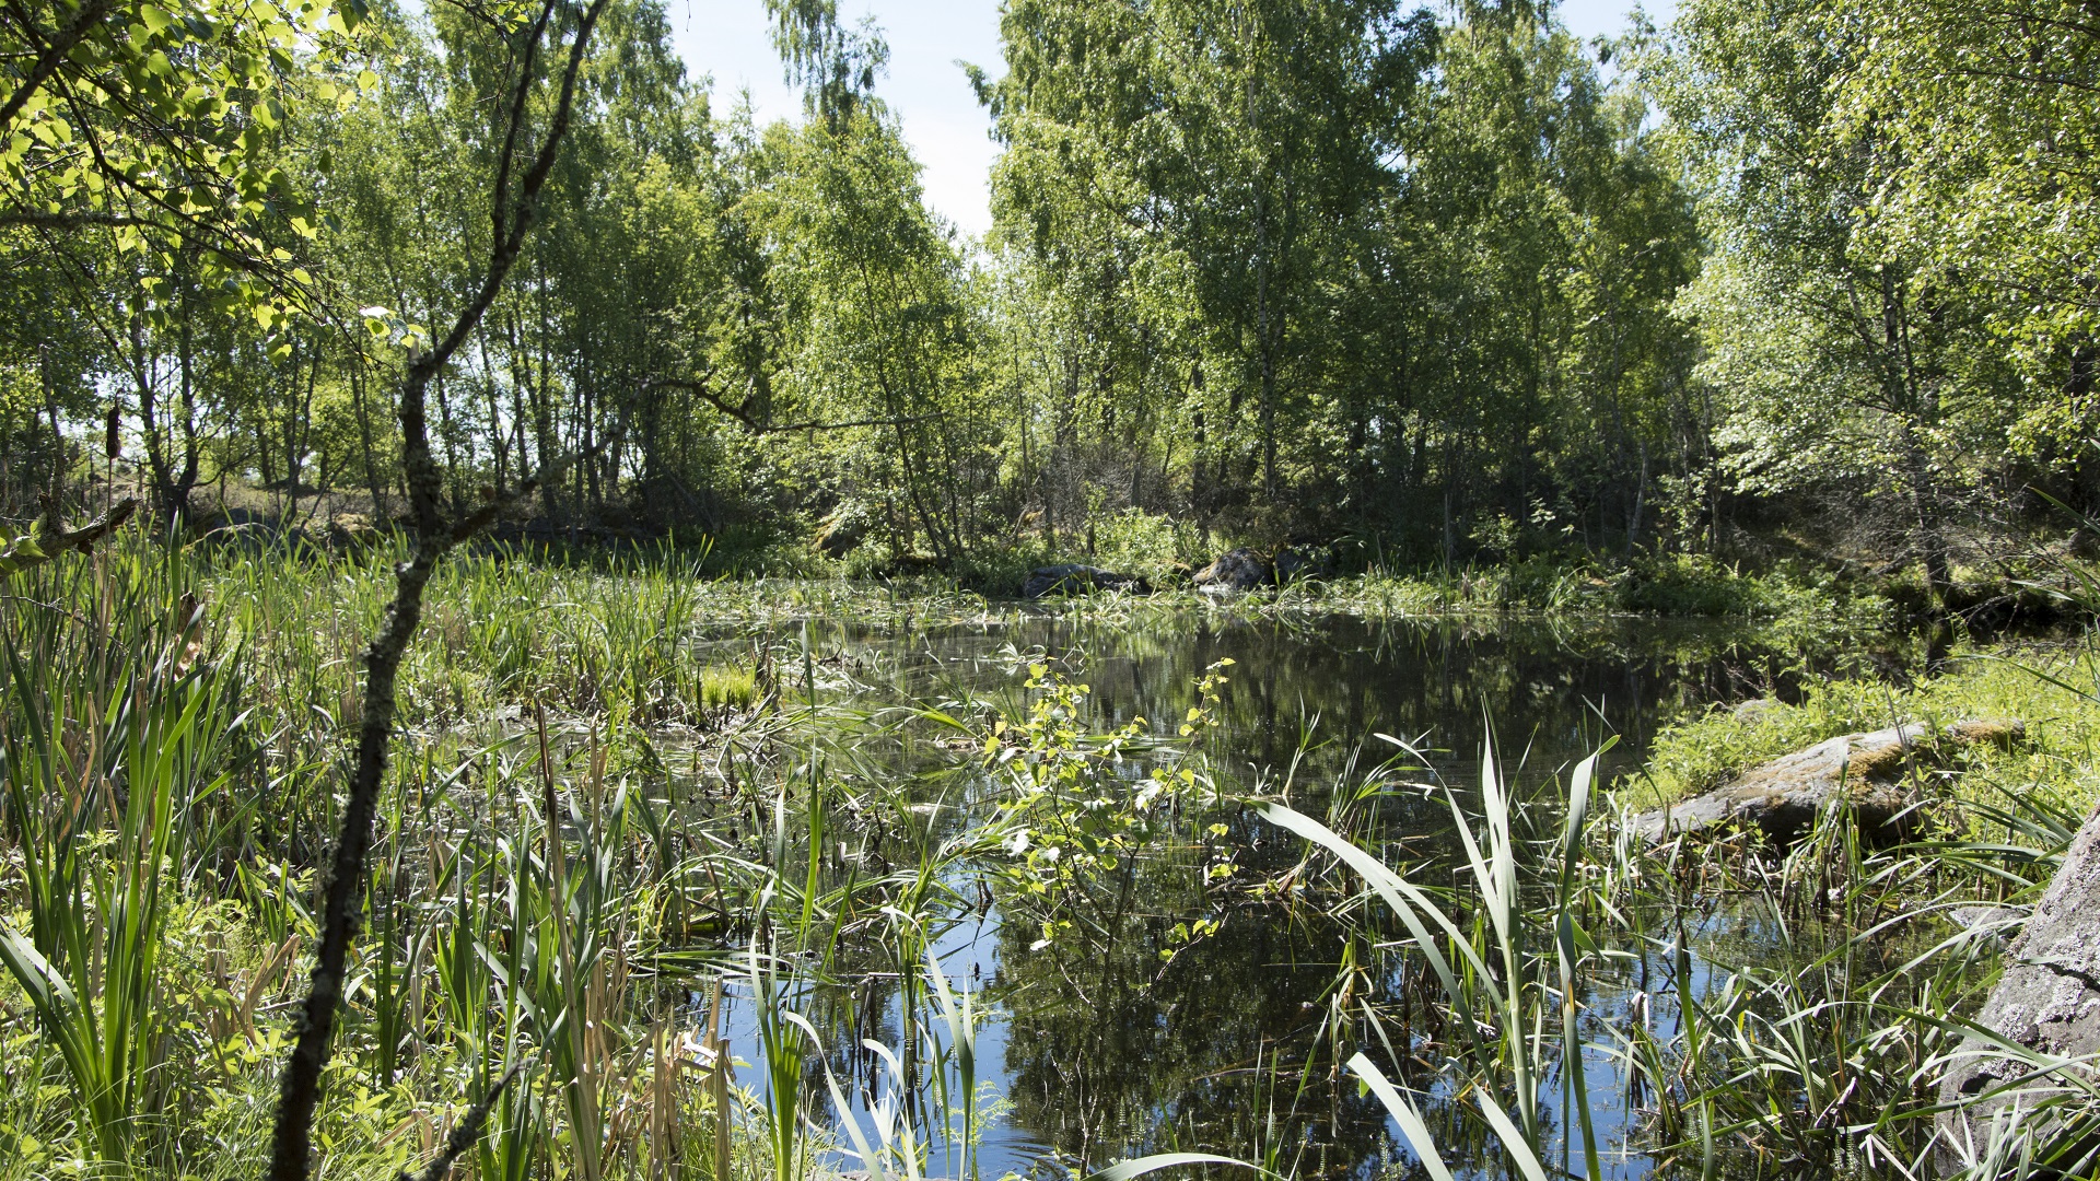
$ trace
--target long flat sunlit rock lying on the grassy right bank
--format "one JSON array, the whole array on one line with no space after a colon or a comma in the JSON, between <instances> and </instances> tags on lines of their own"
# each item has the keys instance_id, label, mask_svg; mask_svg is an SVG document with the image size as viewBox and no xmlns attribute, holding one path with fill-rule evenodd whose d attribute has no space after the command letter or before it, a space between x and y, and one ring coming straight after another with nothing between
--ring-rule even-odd
<instances>
[{"instance_id":1,"label":"long flat sunlit rock lying on the grassy right bank","mask_svg":"<svg viewBox=\"0 0 2100 1181\"><path fill-rule=\"evenodd\" d=\"M1953 746L2012 744L2024 733L2026 727L2016 721L1961 721L1940 731L1909 723L1844 733L1754 767L1703 796L1642 813L1634 817L1634 832L1655 841L1665 832L1756 824L1766 841L1785 849L1814 826L1842 784L1861 832L1871 841L1896 841L1917 803L1915 786L1905 775L1913 761L1938 765Z\"/></svg>"}]
</instances>

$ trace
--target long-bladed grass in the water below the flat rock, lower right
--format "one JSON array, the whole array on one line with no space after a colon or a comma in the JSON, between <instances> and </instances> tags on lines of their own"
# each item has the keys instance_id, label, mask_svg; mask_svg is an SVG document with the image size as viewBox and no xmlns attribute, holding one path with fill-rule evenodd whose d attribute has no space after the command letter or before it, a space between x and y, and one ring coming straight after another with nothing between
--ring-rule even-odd
<instances>
[{"instance_id":1,"label":"long-bladed grass in the water below the flat rock, lower right","mask_svg":"<svg viewBox=\"0 0 2100 1181\"><path fill-rule=\"evenodd\" d=\"M1978 902L2031 899L2075 813L2039 799L1974 801L1961 832L1873 853L1831 809L1808 841L1766 862L1686 838L1642 847L1619 822L1592 828L1594 765L1577 765L1564 794L1518 805L1487 757L1472 794L1478 817L1460 792L1438 790L1462 847L1455 891L1373 855L1365 845L1376 847L1376 830L1357 813L1338 813L1363 832L1344 836L1279 801L1254 801L1363 883L1396 946L1438 986L1430 1009L1447 1034L1434 1032L1434 1013L1367 1009L1371 1044L1346 1063L1430 1177L1451 1177L1453 1149L1466 1158L1485 1141L1508 1175L1544 1181L1569 1168L1554 1162L1577 1139L1586 1177L1628 1149L1701 1177L1980 1181L2090 1168L2100 1143L2092 1063L2037 1055L1968 1019L2016 918L1949 920ZM1527 838L1527 811L1558 817L1558 834ZM1384 923L1346 895L1336 895L1338 912L1376 933ZM1609 1036L1594 1040L1600 1032ZM1951 1143L1938 1080L1974 1055L2014 1061L2024 1105L2001 1089L1964 1099L1957 1110L1978 1112L1982 1139ZM1426 1078L1424 1059L1434 1063ZM1590 1093L1604 1061L1646 1112L1611 1112L1617 1143L1600 1139ZM1550 1097L1558 1126L1544 1116Z\"/></svg>"}]
</instances>

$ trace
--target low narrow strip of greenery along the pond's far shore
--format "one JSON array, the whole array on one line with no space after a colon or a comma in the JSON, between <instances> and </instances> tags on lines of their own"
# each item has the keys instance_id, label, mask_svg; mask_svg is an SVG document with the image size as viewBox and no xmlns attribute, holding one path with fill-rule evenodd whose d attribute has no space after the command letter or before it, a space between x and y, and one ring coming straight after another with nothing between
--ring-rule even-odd
<instances>
[{"instance_id":1,"label":"low narrow strip of greenery along the pond's far shore","mask_svg":"<svg viewBox=\"0 0 2100 1181\"><path fill-rule=\"evenodd\" d=\"M1029 574L1044 567L1086 565L1140 582L1115 599L1161 603L1212 601L1252 609L1334 609L1361 616L1529 612L1569 616L1749 618L1827 630L1896 630L1945 620L1978 635L2048 630L2079 620L2077 593L2090 578L2087 563L2029 546L1976 565L1953 563L1945 584L1928 588L1907 563L1831 563L1827 559L1720 561L1699 553L1592 555L1581 551L1535 553L1522 559L1474 559L1455 565L1365 563L1361 546L1331 542L1317 548L1279 546L1241 551L1224 542L1182 542L1163 521L1140 521L1134 538L1084 551L1048 544L985 546L968 559L930 555L888 557L882 546L827 559L798 544L718 544L712 536L680 542L666 536L567 534L550 527L533 536L481 538L477 557L525 557L552 567L620 572L624 567L680 567L693 578L735 584L844 584L892 586L916 597L970 595L981 601L1018 601ZM386 534L363 517L328 530L281 527L271 517L210 515L183 548L231 548L307 559L359 557L399 548L403 536ZM1155 527L1157 525L1157 527ZM1218 553L1252 553L1268 567L1252 590L1208 597L1191 578ZM1205 557L1210 555L1210 557ZM1354 555L1346 559L1344 555ZM1277 576L1277 565L1294 572ZM1046 599L1098 599L1090 586L1052 586Z\"/></svg>"}]
</instances>

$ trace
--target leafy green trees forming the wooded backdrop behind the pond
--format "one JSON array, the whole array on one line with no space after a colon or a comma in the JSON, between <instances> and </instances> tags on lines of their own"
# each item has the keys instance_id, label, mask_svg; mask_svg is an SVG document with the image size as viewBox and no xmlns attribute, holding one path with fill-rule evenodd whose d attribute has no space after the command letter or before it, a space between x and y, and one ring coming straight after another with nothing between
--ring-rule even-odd
<instances>
[{"instance_id":1,"label":"leafy green trees forming the wooded backdrop behind the pond","mask_svg":"<svg viewBox=\"0 0 2100 1181\"><path fill-rule=\"evenodd\" d=\"M622 2L435 446L462 504L588 452L548 523L867 569L1791 521L1940 588L2037 490L2100 496L2081 13L1693 0L1583 44L1516 0L1014 0L974 242L880 34L775 4L808 107L760 126ZM397 511L384 391L489 250L519 19L90 0L0 38L17 513L84 475L164 519Z\"/></svg>"}]
</instances>

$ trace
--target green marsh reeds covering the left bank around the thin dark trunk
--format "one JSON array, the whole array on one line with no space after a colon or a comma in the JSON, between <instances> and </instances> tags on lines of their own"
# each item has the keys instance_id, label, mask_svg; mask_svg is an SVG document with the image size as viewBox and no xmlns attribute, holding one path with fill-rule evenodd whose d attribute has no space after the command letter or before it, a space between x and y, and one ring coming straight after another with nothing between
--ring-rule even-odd
<instances>
[{"instance_id":1,"label":"green marsh reeds covering the left bank around the thin dark trunk","mask_svg":"<svg viewBox=\"0 0 2100 1181\"><path fill-rule=\"evenodd\" d=\"M328 1078L330 1173L433 1154L512 1070L470 1156L481 1177L712 1177L808 1156L798 1116L773 1149L754 1135L737 1049L693 1044L678 996L735 975L718 939L737 931L811 981L823 962L781 958L783 941L823 946L945 897L920 866L840 880L836 788L815 746L783 738L850 738L865 714L775 708L760 685L796 641L766 622L794 597L724 595L722 616L756 620L724 639L699 622L714 584L693 574L483 557L441 578L403 679L407 735ZM0 1175L246 1170L313 933L307 866L334 828L351 658L382 593L376 561L147 546L10 584L0 1002L36 1028L4 1042L23 1086L0 1103ZM783 664L781 681L855 691L846 668ZM664 735L712 731L724 710L735 735L695 744L674 775ZM764 803L794 824L754 843ZM878 805L916 820L903 792ZM693 1128L704 1152L687 1152Z\"/></svg>"}]
</instances>

